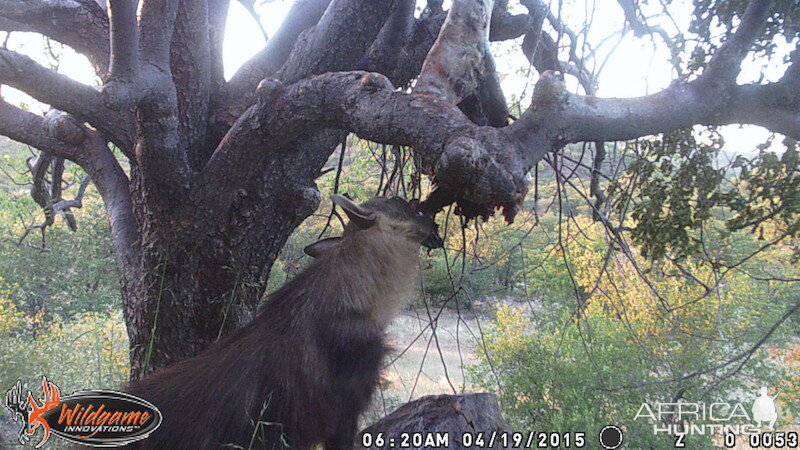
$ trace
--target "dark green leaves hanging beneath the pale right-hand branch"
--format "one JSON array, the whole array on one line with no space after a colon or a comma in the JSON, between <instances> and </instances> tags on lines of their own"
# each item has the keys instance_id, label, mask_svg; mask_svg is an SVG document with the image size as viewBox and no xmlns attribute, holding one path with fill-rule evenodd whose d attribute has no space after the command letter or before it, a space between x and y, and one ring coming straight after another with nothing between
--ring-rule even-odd
<instances>
[{"instance_id":1,"label":"dark green leaves hanging beneath the pale right-hand branch","mask_svg":"<svg viewBox=\"0 0 800 450\"><path fill-rule=\"evenodd\" d=\"M772 241L800 231L800 165L795 141L779 156L764 150L722 165L722 141L713 130L703 143L691 130L638 141L638 157L609 197L648 259L696 256L709 233L740 230ZM719 219L723 222L712 221ZM714 222L714 223L712 223ZM797 258L797 255L795 256Z\"/></svg>"}]
</instances>

